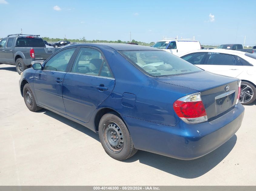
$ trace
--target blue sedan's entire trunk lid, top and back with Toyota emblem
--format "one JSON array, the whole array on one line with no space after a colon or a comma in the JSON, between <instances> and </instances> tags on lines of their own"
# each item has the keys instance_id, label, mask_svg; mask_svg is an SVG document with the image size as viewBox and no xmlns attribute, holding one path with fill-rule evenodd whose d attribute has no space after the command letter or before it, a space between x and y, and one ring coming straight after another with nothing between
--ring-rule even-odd
<instances>
[{"instance_id":1,"label":"blue sedan's entire trunk lid, top and back with Toyota emblem","mask_svg":"<svg viewBox=\"0 0 256 191\"><path fill-rule=\"evenodd\" d=\"M218 118L236 105L239 82L237 78L204 71L188 75L156 78L156 80L201 92L201 99L209 121Z\"/></svg>"}]
</instances>

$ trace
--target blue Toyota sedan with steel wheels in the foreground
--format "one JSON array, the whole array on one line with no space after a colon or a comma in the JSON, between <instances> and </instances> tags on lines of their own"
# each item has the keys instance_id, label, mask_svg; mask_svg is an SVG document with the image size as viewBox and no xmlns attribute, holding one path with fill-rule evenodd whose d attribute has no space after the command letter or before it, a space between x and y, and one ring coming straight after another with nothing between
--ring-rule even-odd
<instances>
[{"instance_id":1,"label":"blue Toyota sedan with steel wheels in the foreground","mask_svg":"<svg viewBox=\"0 0 256 191\"><path fill-rule=\"evenodd\" d=\"M106 153L137 150L191 160L241 126L237 78L204 71L166 51L129 44L75 44L26 69L19 88L42 108L99 134Z\"/></svg>"}]
</instances>

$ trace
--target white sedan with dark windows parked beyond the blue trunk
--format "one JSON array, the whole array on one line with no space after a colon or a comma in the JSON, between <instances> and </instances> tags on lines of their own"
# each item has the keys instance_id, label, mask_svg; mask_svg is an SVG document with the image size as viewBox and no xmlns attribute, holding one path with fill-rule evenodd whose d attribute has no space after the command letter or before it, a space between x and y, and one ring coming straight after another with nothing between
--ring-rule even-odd
<instances>
[{"instance_id":1,"label":"white sedan with dark windows parked beyond the blue trunk","mask_svg":"<svg viewBox=\"0 0 256 191\"><path fill-rule=\"evenodd\" d=\"M180 57L209 72L241 79L240 102L247 105L255 100L256 56L254 54L237 50L210 49L192 51Z\"/></svg>"}]
</instances>

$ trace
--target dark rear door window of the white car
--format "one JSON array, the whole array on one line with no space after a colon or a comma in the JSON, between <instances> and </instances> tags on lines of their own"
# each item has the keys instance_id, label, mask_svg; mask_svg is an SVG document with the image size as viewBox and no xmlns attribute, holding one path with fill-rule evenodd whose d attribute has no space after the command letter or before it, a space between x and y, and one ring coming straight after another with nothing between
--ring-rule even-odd
<instances>
[{"instance_id":1,"label":"dark rear door window of the white car","mask_svg":"<svg viewBox=\"0 0 256 191\"><path fill-rule=\"evenodd\" d=\"M228 54L211 53L207 60L208 65L240 65L234 56Z\"/></svg>"}]
</instances>

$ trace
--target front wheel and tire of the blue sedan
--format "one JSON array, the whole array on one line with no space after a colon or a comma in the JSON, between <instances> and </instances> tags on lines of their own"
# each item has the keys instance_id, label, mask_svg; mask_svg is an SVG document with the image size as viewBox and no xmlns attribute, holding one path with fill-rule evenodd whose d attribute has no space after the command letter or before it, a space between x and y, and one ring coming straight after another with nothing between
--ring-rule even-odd
<instances>
[{"instance_id":1,"label":"front wheel and tire of the blue sedan","mask_svg":"<svg viewBox=\"0 0 256 191\"><path fill-rule=\"evenodd\" d=\"M35 96L31 90L29 84L25 84L23 88L23 98L25 101L26 106L30 111L36 112L42 110L42 107L39 107L35 102Z\"/></svg>"}]
</instances>

